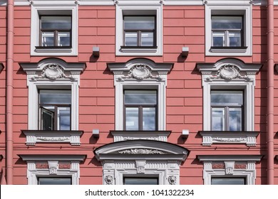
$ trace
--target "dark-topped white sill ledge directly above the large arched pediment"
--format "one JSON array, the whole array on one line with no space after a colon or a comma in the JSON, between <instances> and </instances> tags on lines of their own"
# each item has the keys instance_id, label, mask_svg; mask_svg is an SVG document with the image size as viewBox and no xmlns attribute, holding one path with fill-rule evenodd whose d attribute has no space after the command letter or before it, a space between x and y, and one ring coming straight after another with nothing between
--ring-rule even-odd
<instances>
[{"instance_id":1,"label":"dark-topped white sill ledge directly above the large arched pediment","mask_svg":"<svg viewBox=\"0 0 278 199\"><path fill-rule=\"evenodd\" d=\"M148 139L167 141L171 131L110 131L114 141L127 141L134 139Z\"/></svg>"}]
</instances>

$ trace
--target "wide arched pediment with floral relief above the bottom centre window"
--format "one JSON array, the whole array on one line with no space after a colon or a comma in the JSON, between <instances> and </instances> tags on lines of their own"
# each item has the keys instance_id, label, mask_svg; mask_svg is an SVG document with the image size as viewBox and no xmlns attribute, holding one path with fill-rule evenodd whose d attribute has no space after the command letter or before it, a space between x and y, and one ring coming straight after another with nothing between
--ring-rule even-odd
<instances>
[{"instance_id":1,"label":"wide arched pediment with floral relief above the bottom centre window","mask_svg":"<svg viewBox=\"0 0 278 199\"><path fill-rule=\"evenodd\" d=\"M101 146L94 152L99 161L120 159L168 159L185 161L189 153L182 146L154 140L117 141Z\"/></svg>"}]
</instances>

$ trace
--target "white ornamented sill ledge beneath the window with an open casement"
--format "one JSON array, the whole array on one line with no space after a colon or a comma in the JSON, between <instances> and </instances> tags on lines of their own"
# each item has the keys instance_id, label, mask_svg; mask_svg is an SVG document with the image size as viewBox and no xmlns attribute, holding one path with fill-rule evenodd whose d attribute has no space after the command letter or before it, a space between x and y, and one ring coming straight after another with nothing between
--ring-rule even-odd
<instances>
[{"instance_id":1,"label":"white ornamented sill ledge beneath the window with an open casement","mask_svg":"<svg viewBox=\"0 0 278 199\"><path fill-rule=\"evenodd\" d=\"M70 143L80 145L80 137L83 131L41 131L21 130L26 135L26 145L37 143Z\"/></svg>"}]
</instances>

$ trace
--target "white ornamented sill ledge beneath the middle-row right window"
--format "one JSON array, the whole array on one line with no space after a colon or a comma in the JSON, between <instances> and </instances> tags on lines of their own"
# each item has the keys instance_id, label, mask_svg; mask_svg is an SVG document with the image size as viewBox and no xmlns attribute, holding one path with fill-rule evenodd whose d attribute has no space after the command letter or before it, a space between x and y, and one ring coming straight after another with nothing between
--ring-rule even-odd
<instances>
[{"instance_id":1,"label":"white ornamented sill ledge beneath the middle-row right window","mask_svg":"<svg viewBox=\"0 0 278 199\"><path fill-rule=\"evenodd\" d=\"M256 146L259 131L199 131L202 136L202 146L212 144L246 144Z\"/></svg>"}]
</instances>

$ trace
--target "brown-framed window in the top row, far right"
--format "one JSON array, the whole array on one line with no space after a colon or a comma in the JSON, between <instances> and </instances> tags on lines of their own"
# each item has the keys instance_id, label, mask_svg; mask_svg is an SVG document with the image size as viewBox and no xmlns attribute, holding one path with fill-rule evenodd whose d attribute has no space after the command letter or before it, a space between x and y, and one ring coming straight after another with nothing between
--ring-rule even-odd
<instances>
[{"instance_id":1,"label":"brown-framed window in the top row, far right","mask_svg":"<svg viewBox=\"0 0 278 199\"><path fill-rule=\"evenodd\" d=\"M212 47L243 46L242 16L212 16Z\"/></svg>"}]
</instances>

